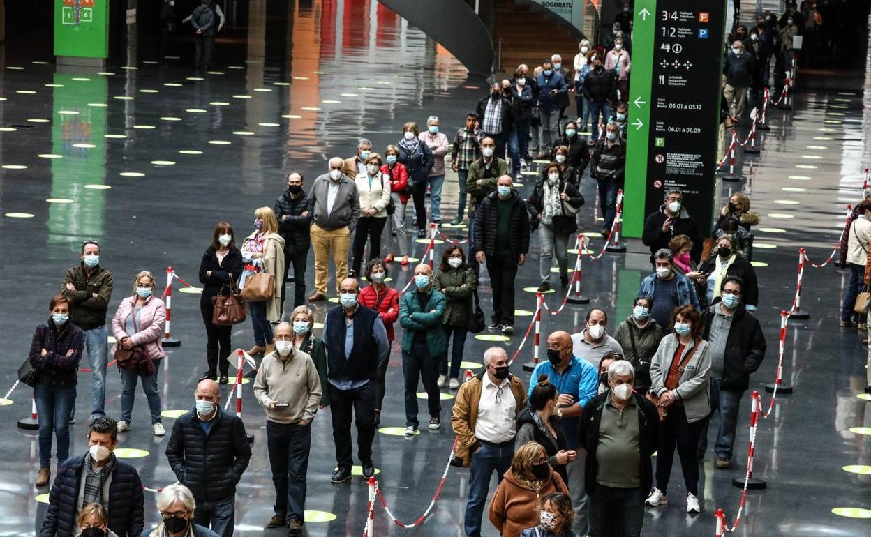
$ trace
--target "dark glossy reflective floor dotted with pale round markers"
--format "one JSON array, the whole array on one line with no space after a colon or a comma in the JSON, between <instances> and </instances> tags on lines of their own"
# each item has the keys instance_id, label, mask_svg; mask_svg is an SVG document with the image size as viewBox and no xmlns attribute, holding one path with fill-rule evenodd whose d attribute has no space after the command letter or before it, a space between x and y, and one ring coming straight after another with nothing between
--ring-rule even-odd
<instances>
[{"instance_id":1,"label":"dark glossy reflective floor dotted with pale round markers","mask_svg":"<svg viewBox=\"0 0 871 537\"><path fill-rule=\"evenodd\" d=\"M141 61L132 58L104 74L96 70L62 74L53 65L34 63L50 58L24 60L20 50L16 63L5 65L0 72L0 97L5 99L0 102L0 289L4 297L0 346L6 352L0 386L12 386L33 327L44 322L48 300L57 292L64 269L76 262L82 239L100 241L103 262L115 274L110 312L141 269L155 272L162 281L165 267L172 265L182 279L198 285L200 252L213 225L226 220L238 234L246 234L253 210L273 205L287 171L302 171L310 180L324 171L328 157L353 154L357 138L371 138L381 151L395 143L405 121L423 124L431 114L442 117L442 131L451 136L463 123L464 112L472 110L485 93L483 80L467 79L446 51L375 3L315 3L288 17L284 25L276 25L272 17L253 10L243 44L219 41L219 59L213 72L206 74L194 73L172 58L164 66L148 63L153 57L145 51ZM288 29L293 31L287 34ZM276 32L289 35L292 43L277 51L267 46L274 43ZM293 55L287 50L293 50ZM753 389L761 390L774 376L779 313L793 299L798 247L806 247L814 262L826 258L840 232L844 205L861 198L861 171L871 158L865 126L868 103L863 97L869 87L866 67L803 73L794 110L769 109L772 131L760 136L762 154L743 164L751 179L743 185L724 185L717 202L722 205L731 191L744 188L762 218L754 260L763 290L759 317L769 352L753 376ZM110 72L114 74L105 74ZM524 195L530 193L531 176L526 183L520 187ZM449 174L443 205L450 218L456 212L456 192L456 175ZM587 230L598 230L594 182L589 179L584 179L584 196L588 202L581 221ZM460 238L462 232L449 236ZM601 246L602 238L592 238L594 252ZM421 257L425 245L412 243L410 248ZM510 353L521 344L535 310L535 294L521 288L539 283L537 253L533 235L530 261L517 280L517 309L525 312L518 317L517 334L504 343ZM391 268L392 283L404 286L412 265ZM584 258L584 294L610 314L609 330L628 315L638 283L649 270L645 248L637 241L630 241L625 254L606 253L598 261ZM811 319L791 323L786 340L786 377L795 393L778 398L772 417L760 422L755 475L765 479L768 488L749 493L741 534L871 532L869 520L832 513L836 507L871 508L867 473L842 469L871 464L871 436L851 430L871 426L871 409L868 400L857 397L865 385L865 350L854 330L838 328L846 276L831 265L806 266L805 276L801 307ZM307 280L313 280L310 267ZM489 313L488 286L484 271L483 307ZM182 345L167 349L169 359L159 373L167 411L192 406L196 380L205 370L199 296L180 292L182 287L176 283L172 302L172 333ZM547 296L550 306L559 305L559 294ZM556 316L544 314L542 332L579 329L587 307L567 305ZM325 306L314 309L321 320ZM233 342L250 346L251 326L238 326ZM470 336L465 359L480 366L490 345ZM531 355L531 340L527 340L518 360ZM404 426L401 368L395 345L383 426ZM107 407L118 416L116 371L111 369L108 375ZM528 379L520 363L513 371ZM78 392L79 423L71 428L72 453L84 452L88 373L80 375ZM440 430L424 430L411 440L386 433L375 439L381 490L391 512L406 523L429 505L448 461L453 393L443 392ZM16 427L16 420L29 413L28 395L25 387L18 387L10 394L14 403L0 408L0 446L7 462L0 467L0 488L5 492L0 520L5 534L32 534L44 514L44 504L35 498L47 489L32 485L38 469L36 438ZM228 395L224 388L225 400ZM254 456L237 494L236 534L278 535L283 530L264 529L272 514L273 486L265 419L253 404L250 384L243 387L243 399L244 420L254 434ZM746 445L748 429L743 424L749 406L746 398L736 453ZM164 422L167 429L172 426L172 418ZM163 454L166 439L152 437L147 424L145 399L138 393L132 431L121 435L120 446L145 450L139 453L144 457L131 462L147 487L162 487L175 480ZM334 458L328 409L319 413L313 427L307 508L336 518L313 513L307 533L360 534L366 488L360 480L339 487L329 484ZM745 460L740 454L737 466ZM715 470L710 456L702 467L703 513L694 517L684 513L681 487L676 484L672 505L645 515L645 535L713 534L712 514L717 508L725 509L733 520L740 493L732 480L743 476L742 469ZM862 468L868 471L867 466ZM416 530L395 526L377 507L376 534L463 534L468 479L468 470L451 467L436 506ZM672 482L679 483L677 467ZM495 483L491 491L494 488ZM145 508L146 523L156 522L152 493L146 493ZM484 534L495 534L487 521L483 528Z\"/></svg>"}]
</instances>

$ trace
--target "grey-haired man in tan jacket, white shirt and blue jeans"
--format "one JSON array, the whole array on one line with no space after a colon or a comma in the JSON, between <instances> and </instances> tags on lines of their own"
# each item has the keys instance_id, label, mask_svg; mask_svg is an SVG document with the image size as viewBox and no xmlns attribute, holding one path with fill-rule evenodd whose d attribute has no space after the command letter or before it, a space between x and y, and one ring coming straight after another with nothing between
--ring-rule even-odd
<instances>
[{"instance_id":1,"label":"grey-haired man in tan jacket, white shirt and blue jeans","mask_svg":"<svg viewBox=\"0 0 871 537\"><path fill-rule=\"evenodd\" d=\"M484 352L484 370L460 386L450 425L456 434L456 463L471 467L463 529L481 537L481 516L490 478L501 482L514 456L517 416L526 406L523 382L510 373L500 346ZM544 448L542 449L544 452Z\"/></svg>"}]
</instances>

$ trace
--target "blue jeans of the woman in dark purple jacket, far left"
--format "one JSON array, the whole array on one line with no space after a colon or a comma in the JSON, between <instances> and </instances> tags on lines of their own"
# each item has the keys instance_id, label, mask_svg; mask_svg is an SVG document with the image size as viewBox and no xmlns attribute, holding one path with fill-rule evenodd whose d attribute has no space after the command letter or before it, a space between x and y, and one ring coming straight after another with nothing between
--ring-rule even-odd
<instances>
[{"instance_id":1,"label":"blue jeans of the woman in dark purple jacket, far left","mask_svg":"<svg viewBox=\"0 0 871 537\"><path fill-rule=\"evenodd\" d=\"M59 467L70 457L70 413L76 406L76 386L37 382L37 386L33 386L33 397L39 416L39 467L51 466L51 433L57 436Z\"/></svg>"}]
</instances>

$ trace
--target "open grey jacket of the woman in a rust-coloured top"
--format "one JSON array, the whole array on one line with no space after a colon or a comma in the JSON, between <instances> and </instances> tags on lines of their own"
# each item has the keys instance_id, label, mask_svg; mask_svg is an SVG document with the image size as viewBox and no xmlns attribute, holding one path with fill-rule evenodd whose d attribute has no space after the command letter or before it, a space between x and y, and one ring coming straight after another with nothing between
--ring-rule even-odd
<instances>
[{"instance_id":1,"label":"open grey jacket of the woman in a rust-coloured top","mask_svg":"<svg viewBox=\"0 0 871 537\"><path fill-rule=\"evenodd\" d=\"M686 356L686 352L694 346L691 341L684 348L680 359ZM651 391L657 395L665 393L665 378L668 377L668 369L672 366L674 352L678 350L677 334L668 334L659 342L659 348L651 361ZM699 343L699 349L692 355L692 359L686 364L684 373L678 379L678 397L684 403L686 420L690 423L704 420L711 413L709 399L710 387L708 378L711 376L711 355L708 353L708 344L704 339Z\"/></svg>"}]
</instances>

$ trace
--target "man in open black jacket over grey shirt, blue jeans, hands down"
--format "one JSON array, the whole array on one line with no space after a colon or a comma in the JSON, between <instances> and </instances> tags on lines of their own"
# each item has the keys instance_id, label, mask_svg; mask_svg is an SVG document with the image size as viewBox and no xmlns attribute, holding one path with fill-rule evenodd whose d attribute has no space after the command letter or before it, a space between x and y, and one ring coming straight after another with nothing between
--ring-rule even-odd
<instances>
[{"instance_id":1,"label":"man in open black jacket over grey shirt, blue jeans, hands down","mask_svg":"<svg viewBox=\"0 0 871 537\"><path fill-rule=\"evenodd\" d=\"M708 342L711 356L711 415L699 437L699 460L707 450L708 424L719 410L714 452L717 467L726 469L732 459L741 398L749 386L750 373L759 369L765 358L766 342L759 320L741 304L744 282L726 276L721 285L719 298L702 312L705 323L702 337Z\"/></svg>"}]
</instances>

